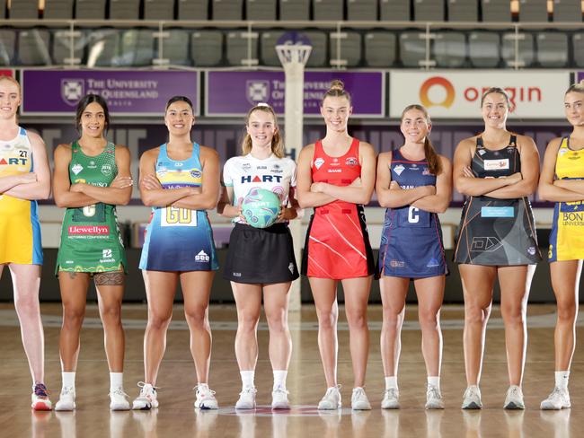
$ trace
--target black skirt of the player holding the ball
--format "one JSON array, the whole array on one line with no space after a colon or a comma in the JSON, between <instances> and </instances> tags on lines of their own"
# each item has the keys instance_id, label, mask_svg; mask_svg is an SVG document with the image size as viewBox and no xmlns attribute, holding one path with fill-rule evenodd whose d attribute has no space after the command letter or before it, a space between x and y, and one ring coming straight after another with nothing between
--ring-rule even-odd
<instances>
[{"instance_id":1,"label":"black skirt of the player holding the ball","mask_svg":"<svg viewBox=\"0 0 584 438\"><path fill-rule=\"evenodd\" d=\"M292 234L287 223L253 228L235 223L229 238L226 280L236 283L286 283L298 278Z\"/></svg>"}]
</instances>

